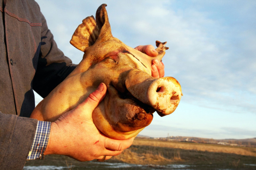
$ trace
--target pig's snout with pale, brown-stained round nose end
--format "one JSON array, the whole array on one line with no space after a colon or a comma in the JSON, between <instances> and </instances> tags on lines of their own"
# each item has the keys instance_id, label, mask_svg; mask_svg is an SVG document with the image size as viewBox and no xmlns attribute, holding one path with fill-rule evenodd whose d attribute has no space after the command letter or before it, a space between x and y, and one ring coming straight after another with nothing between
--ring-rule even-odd
<instances>
[{"instance_id":1,"label":"pig's snout with pale, brown-stained round nose end","mask_svg":"<svg viewBox=\"0 0 256 170\"><path fill-rule=\"evenodd\" d=\"M154 78L141 71L130 71L127 90L142 103L154 108L160 116L174 112L182 96L181 86L173 77Z\"/></svg>"}]
</instances>

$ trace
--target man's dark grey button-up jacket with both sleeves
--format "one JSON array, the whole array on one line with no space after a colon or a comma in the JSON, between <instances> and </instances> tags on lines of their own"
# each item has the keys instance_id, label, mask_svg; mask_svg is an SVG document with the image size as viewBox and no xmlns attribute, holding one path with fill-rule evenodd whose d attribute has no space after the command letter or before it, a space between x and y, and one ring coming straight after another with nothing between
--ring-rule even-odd
<instances>
[{"instance_id":1,"label":"man's dark grey button-up jacket with both sleeves","mask_svg":"<svg viewBox=\"0 0 256 170\"><path fill-rule=\"evenodd\" d=\"M32 0L0 0L0 169L22 169L37 120L35 90L45 97L75 68L57 48Z\"/></svg>"}]
</instances>

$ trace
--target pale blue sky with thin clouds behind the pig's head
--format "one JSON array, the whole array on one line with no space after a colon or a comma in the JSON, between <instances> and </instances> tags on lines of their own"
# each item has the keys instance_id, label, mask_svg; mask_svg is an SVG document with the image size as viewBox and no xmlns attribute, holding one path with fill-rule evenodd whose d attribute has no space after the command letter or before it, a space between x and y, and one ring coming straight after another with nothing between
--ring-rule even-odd
<instances>
[{"instance_id":1,"label":"pale blue sky with thin clouds behind the pig's head","mask_svg":"<svg viewBox=\"0 0 256 170\"><path fill-rule=\"evenodd\" d=\"M69 41L102 3L113 36L125 44L167 41L165 76L179 81L183 97L172 114L154 113L140 135L256 137L256 1L36 1L58 48L76 64L83 52Z\"/></svg>"}]
</instances>

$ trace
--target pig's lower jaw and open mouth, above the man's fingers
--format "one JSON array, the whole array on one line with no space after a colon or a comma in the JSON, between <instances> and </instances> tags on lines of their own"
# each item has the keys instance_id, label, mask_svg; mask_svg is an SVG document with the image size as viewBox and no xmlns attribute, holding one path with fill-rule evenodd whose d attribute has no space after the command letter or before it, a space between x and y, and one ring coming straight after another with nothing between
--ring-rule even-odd
<instances>
[{"instance_id":1,"label":"pig's lower jaw and open mouth, above the man's fingers","mask_svg":"<svg viewBox=\"0 0 256 170\"><path fill-rule=\"evenodd\" d=\"M93 121L104 135L114 139L135 137L153 119L151 107L141 103L130 94L120 96L113 86L93 112ZM128 92L129 93L129 92Z\"/></svg>"}]
</instances>

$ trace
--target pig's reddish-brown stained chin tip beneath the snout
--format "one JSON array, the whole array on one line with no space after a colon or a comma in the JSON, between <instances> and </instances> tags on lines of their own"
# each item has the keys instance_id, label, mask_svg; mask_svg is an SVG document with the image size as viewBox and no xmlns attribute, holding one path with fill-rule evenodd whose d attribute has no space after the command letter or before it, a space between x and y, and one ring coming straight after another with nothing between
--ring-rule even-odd
<instances>
[{"instance_id":1,"label":"pig's reddish-brown stained chin tip beneath the snout","mask_svg":"<svg viewBox=\"0 0 256 170\"><path fill-rule=\"evenodd\" d=\"M111 113L114 113L113 127L117 131L129 132L148 126L153 115L146 113L129 99L117 99L111 104Z\"/></svg>"}]
</instances>

